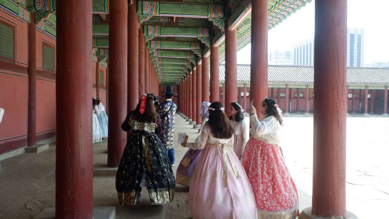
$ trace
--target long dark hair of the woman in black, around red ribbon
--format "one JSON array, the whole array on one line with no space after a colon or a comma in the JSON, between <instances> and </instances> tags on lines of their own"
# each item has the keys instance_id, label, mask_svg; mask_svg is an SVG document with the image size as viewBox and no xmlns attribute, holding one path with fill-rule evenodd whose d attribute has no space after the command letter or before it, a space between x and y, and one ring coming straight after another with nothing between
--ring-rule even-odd
<instances>
[{"instance_id":1,"label":"long dark hair of the woman in black, around red ribbon","mask_svg":"<svg viewBox=\"0 0 389 219\"><path fill-rule=\"evenodd\" d=\"M155 111L154 107L154 95L146 94L146 106L143 114L139 112L140 101L141 100L139 100L138 105L136 105L136 108L130 112L130 115L132 115L138 122L155 122L157 120L158 113Z\"/></svg>"}]
</instances>

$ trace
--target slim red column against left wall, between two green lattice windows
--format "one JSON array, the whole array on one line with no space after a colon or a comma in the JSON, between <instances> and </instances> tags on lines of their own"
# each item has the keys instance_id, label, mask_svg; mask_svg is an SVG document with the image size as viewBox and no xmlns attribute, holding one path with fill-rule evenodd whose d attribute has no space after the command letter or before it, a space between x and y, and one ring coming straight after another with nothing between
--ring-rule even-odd
<instances>
[{"instance_id":1,"label":"slim red column against left wall, between two green lattice windows","mask_svg":"<svg viewBox=\"0 0 389 219\"><path fill-rule=\"evenodd\" d=\"M28 23L28 113L27 113L27 146L36 144L36 27L35 13L31 12Z\"/></svg>"}]
</instances>

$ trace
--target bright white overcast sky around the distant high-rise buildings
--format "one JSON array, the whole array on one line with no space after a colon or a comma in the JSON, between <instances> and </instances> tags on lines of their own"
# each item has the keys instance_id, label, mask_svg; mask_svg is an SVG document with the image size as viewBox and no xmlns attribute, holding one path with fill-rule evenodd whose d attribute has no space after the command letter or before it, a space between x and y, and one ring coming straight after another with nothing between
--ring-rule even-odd
<instances>
[{"instance_id":1,"label":"bright white overcast sky around the distant high-rise buildings","mask_svg":"<svg viewBox=\"0 0 389 219\"><path fill-rule=\"evenodd\" d=\"M364 65L389 61L389 0L348 0L347 27L364 28ZM268 32L268 52L292 51L293 44L315 34L315 0ZM238 52L239 64L250 64L251 44Z\"/></svg>"}]
</instances>

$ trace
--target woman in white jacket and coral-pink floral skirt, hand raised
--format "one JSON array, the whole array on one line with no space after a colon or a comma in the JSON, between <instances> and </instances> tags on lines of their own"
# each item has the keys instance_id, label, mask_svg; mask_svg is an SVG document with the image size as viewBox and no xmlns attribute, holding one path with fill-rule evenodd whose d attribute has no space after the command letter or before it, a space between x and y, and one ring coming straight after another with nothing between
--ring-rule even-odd
<instances>
[{"instance_id":1,"label":"woman in white jacket and coral-pink floral skirt, hand raised","mask_svg":"<svg viewBox=\"0 0 389 219\"><path fill-rule=\"evenodd\" d=\"M258 218L294 219L298 216L298 195L284 157L278 148L282 124L281 109L266 98L258 109L250 109L251 137L242 157L255 194Z\"/></svg>"}]
</instances>

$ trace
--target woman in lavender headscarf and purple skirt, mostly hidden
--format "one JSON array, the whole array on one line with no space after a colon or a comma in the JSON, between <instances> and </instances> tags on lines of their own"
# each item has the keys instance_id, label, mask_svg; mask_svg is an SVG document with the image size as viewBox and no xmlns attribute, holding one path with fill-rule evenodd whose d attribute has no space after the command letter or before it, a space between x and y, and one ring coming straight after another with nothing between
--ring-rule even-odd
<instances>
[{"instance_id":1,"label":"woman in lavender headscarf and purple skirt, mostly hidden","mask_svg":"<svg viewBox=\"0 0 389 219\"><path fill-rule=\"evenodd\" d=\"M201 128L199 130L199 133L201 132L201 129L203 128L205 122L208 121L208 117L209 117L208 108L210 105L211 105L210 102L203 102L201 104L200 116L203 118L203 122L201 123ZM195 171L195 167L197 161L200 158L201 151L202 150L189 149L182 157L182 160L180 161L180 164L178 165L177 168L177 174L176 174L177 184L181 184L187 187L190 186L190 181L193 175L193 171Z\"/></svg>"}]
</instances>

